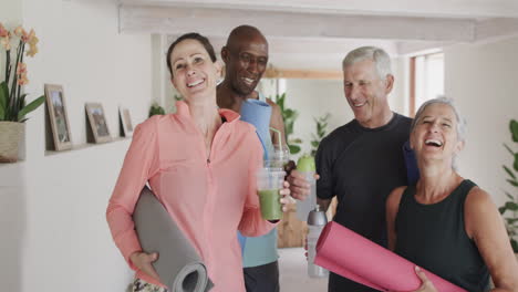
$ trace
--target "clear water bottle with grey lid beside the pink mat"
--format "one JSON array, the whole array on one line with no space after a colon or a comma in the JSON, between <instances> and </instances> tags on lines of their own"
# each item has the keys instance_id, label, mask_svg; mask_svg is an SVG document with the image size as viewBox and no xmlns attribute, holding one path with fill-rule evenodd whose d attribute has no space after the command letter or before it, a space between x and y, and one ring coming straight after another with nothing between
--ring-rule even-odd
<instances>
[{"instance_id":1,"label":"clear water bottle with grey lid beside the pink mat","mask_svg":"<svg viewBox=\"0 0 518 292\"><path fill-rule=\"evenodd\" d=\"M320 210L320 206L317 205L314 210L308 215L308 275L311 278L325 278L329 275L328 270L314 264L317 241L327 223L328 217L325 217L325 212Z\"/></svg>"}]
</instances>

